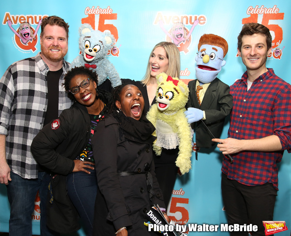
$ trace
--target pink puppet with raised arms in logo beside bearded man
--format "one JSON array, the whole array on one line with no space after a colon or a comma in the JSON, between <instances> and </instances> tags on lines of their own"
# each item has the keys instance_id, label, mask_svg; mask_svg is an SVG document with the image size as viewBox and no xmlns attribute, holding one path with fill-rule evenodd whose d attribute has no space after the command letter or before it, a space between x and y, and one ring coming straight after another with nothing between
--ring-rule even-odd
<instances>
[{"instance_id":1,"label":"pink puppet with raised arms in logo beside bearded man","mask_svg":"<svg viewBox=\"0 0 291 236\"><path fill-rule=\"evenodd\" d=\"M14 32L14 34L16 34L16 36L18 36L24 44L27 44L30 40L35 38L37 31L40 27L41 21L42 21L42 19L40 19L38 21L38 24L37 24L36 30L34 31L34 34L32 31L32 27L31 27L30 23L28 23L28 22L24 22L24 23L20 24L19 34L15 29L12 28L11 20L8 20L7 23L8 23L9 28Z\"/></svg>"}]
</instances>

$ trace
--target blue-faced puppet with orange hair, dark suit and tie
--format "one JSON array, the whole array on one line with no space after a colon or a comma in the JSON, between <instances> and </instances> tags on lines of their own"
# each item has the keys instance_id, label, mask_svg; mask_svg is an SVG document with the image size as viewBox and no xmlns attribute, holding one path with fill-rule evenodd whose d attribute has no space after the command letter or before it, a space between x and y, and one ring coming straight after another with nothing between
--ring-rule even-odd
<instances>
[{"instance_id":1,"label":"blue-faced puppet with orange hair, dark suit and tie","mask_svg":"<svg viewBox=\"0 0 291 236\"><path fill-rule=\"evenodd\" d=\"M195 57L197 79L188 84L190 92L185 112L188 122L193 123L196 136L193 141L196 141L197 148L210 148L216 144L211 139L220 137L225 118L232 109L229 86L217 78L226 64L227 51L226 40L218 35L204 34L199 40Z\"/></svg>"}]
</instances>

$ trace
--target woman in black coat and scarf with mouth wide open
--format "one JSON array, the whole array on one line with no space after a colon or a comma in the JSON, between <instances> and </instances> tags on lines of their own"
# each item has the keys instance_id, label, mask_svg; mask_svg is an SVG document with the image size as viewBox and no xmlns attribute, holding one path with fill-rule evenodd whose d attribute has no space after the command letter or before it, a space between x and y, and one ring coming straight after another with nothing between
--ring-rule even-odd
<instances>
[{"instance_id":1,"label":"woman in black coat and scarf with mouth wide open","mask_svg":"<svg viewBox=\"0 0 291 236\"><path fill-rule=\"evenodd\" d=\"M152 158L155 128L146 119L144 106L137 86L115 87L109 113L93 136L98 180L96 236L155 235L144 225L146 213L154 204L165 211Z\"/></svg>"}]
</instances>

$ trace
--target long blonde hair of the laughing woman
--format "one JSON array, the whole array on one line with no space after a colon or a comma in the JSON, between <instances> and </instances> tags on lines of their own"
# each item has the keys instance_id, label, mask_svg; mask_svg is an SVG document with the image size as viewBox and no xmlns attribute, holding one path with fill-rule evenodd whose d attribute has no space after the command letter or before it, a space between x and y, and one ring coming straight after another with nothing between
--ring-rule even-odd
<instances>
[{"instance_id":1,"label":"long blonde hair of the laughing woman","mask_svg":"<svg viewBox=\"0 0 291 236\"><path fill-rule=\"evenodd\" d=\"M149 55L149 59L153 53L153 51L158 48L163 47L166 51L167 59L169 60L169 66L165 73L170 75L171 77L176 77L180 79L180 52L177 46L172 42L160 42L158 43ZM141 81L143 84L148 85L150 84L150 64L149 59L146 67L146 75L144 76L143 80Z\"/></svg>"}]
</instances>

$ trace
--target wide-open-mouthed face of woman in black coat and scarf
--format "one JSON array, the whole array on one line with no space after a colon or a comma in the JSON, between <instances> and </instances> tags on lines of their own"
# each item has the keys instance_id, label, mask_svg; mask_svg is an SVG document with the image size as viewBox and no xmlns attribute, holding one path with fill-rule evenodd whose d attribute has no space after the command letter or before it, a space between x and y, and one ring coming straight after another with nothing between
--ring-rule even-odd
<instances>
[{"instance_id":1,"label":"wide-open-mouthed face of woman in black coat and scarf","mask_svg":"<svg viewBox=\"0 0 291 236\"><path fill-rule=\"evenodd\" d=\"M128 84L122 88L120 101L115 101L115 105L125 116L139 120L142 117L145 101L138 87Z\"/></svg>"}]
</instances>

